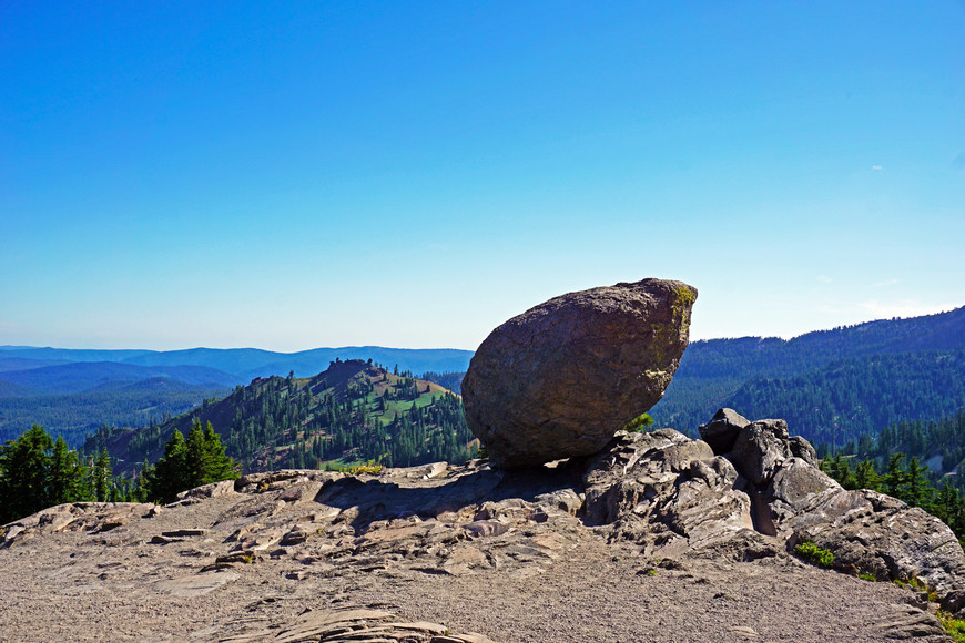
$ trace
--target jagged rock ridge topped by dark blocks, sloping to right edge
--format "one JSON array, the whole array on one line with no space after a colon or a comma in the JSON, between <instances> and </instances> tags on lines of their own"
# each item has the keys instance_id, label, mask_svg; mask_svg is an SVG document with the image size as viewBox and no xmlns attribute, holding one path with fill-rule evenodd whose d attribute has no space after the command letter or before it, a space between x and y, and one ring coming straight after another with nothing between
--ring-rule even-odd
<instances>
[{"instance_id":1,"label":"jagged rock ridge topped by dark blocks, sloping to right edge","mask_svg":"<svg viewBox=\"0 0 965 643\"><path fill-rule=\"evenodd\" d=\"M831 551L843 571L917 579L947 610L965 606L965 555L937 518L876 491L842 489L817 469L806 440L789 437L784 420L750 422L721 409L700 435L737 468L734 488L750 498L759 532L788 550L813 542Z\"/></svg>"}]
</instances>

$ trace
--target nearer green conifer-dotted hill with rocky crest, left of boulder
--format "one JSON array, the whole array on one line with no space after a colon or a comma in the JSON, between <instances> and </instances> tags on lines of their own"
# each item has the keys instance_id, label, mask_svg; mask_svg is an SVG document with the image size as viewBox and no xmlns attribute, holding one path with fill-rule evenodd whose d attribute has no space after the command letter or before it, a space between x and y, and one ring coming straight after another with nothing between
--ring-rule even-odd
<instances>
[{"instance_id":1,"label":"nearer green conifer-dotted hill with rocky crest, left of boulder","mask_svg":"<svg viewBox=\"0 0 965 643\"><path fill-rule=\"evenodd\" d=\"M156 460L174 429L186 432L195 420L213 425L245 471L367 460L405 467L474 451L458 396L408 371L341 359L312 378L256 379L163 423L102 428L84 451L106 447L131 470Z\"/></svg>"}]
</instances>

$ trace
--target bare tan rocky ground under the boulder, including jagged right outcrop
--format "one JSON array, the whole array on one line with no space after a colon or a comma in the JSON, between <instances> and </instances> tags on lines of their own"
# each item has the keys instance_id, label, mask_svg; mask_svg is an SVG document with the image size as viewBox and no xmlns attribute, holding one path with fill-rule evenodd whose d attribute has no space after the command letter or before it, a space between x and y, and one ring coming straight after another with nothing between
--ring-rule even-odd
<instances>
[{"instance_id":1,"label":"bare tan rocky ground under the boulder, including jagged right outcrop","mask_svg":"<svg viewBox=\"0 0 965 643\"><path fill-rule=\"evenodd\" d=\"M947 640L927 600L855 574L914 575L962 610L965 554L954 535L902 502L842 490L780 429L745 422L734 445L758 447L733 461L737 447L720 455L664 429L618 432L591 458L535 469L474 460L379 476L277 471L165 508L52 508L0 528L0 632L11 641ZM831 549L840 570L791 555L802 540Z\"/></svg>"}]
</instances>

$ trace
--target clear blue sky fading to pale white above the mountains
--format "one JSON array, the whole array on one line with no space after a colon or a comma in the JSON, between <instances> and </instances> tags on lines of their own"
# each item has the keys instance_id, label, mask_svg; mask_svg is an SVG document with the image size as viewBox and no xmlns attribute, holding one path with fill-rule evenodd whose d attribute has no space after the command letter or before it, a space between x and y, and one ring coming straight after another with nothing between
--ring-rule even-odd
<instances>
[{"instance_id":1,"label":"clear blue sky fading to pale white above the mountains","mask_svg":"<svg viewBox=\"0 0 965 643\"><path fill-rule=\"evenodd\" d=\"M965 304L965 3L0 3L0 344L475 348Z\"/></svg>"}]
</instances>

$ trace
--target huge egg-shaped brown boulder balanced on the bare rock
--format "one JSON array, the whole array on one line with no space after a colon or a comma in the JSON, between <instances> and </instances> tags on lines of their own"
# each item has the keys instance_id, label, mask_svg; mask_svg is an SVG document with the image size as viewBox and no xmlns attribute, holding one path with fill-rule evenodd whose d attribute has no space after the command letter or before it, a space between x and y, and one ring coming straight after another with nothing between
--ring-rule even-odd
<instances>
[{"instance_id":1,"label":"huge egg-shaped brown boulder balanced on the bare rock","mask_svg":"<svg viewBox=\"0 0 965 643\"><path fill-rule=\"evenodd\" d=\"M643 279L555 297L496 328L463 380L469 429L499 466L589 456L663 396L697 289Z\"/></svg>"}]
</instances>

